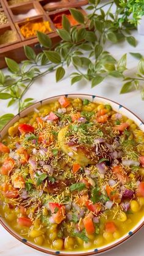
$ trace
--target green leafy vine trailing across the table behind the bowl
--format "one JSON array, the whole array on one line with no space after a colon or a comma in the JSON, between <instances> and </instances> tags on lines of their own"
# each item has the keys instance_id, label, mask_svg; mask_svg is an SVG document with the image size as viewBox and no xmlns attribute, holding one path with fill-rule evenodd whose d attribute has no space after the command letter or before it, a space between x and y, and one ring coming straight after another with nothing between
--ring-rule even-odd
<instances>
[{"instance_id":1,"label":"green leafy vine trailing across the table behind the bowl","mask_svg":"<svg viewBox=\"0 0 144 256\"><path fill-rule=\"evenodd\" d=\"M81 26L71 27L67 16L63 15L63 29L57 29L60 42L56 45L52 45L48 35L37 32L42 47L41 53L35 54L34 49L24 46L27 60L24 60L21 65L18 65L15 60L5 58L10 73L4 75L0 70L0 99L9 100L8 107L17 104L20 112L30 106L34 98L24 99L24 97L35 80L55 71L58 82L65 76L70 65L75 69L70 75L71 85L85 79L91 82L92 87L95 87L108 76L124 79L126 54L120 60L116 60L104 49L104 43L107 40L111 43L127 40L130 45L135 46L136 40L131 36L131 29L134 25L129 23L129 14L126 15L124 7L120 6L120 1L114 0L101 7L99 7L99 2L101 1L89 1L90 5L87 9L92 13L87 16L77 9L70 9L71 15ZM106 5L108 9L104 12ZM114 14L111 10L112 6L116 8ZM142 81L142 67L139 71L139 75L142 76L139 79ZM136 75L136 78L139 75ZM136 78L126 78L129 84L121 89L121 93L127 92L130 87L132 89L130 84L138 84L139 79ZM143 91L143 89L140 90ZM3 119L0 128L8 121L8 117L12 118L11 115L7 115L6 118L5 115L1 117Z\"/></svg>"}]
</instances>

